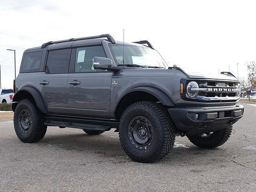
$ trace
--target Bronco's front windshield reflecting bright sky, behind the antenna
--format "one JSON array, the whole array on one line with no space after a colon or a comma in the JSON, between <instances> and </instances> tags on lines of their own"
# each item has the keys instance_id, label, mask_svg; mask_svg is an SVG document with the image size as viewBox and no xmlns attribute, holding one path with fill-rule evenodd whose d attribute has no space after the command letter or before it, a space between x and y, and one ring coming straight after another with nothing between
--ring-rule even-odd
<instances>
[{"instance_id":1,"label":"Bronco's front windshield reflecting bright sky, behind the antenna","mask_svg":"<svg viewBox=\"0 0 256 192\"><path fill-rule=\"evenodd\" d=\"M109 46L117 65L123 65L123 45L109 44ZM125 65L168 68L157 50L131 45L125 45L124 49Z\"/></svg>"}]
</instances>

